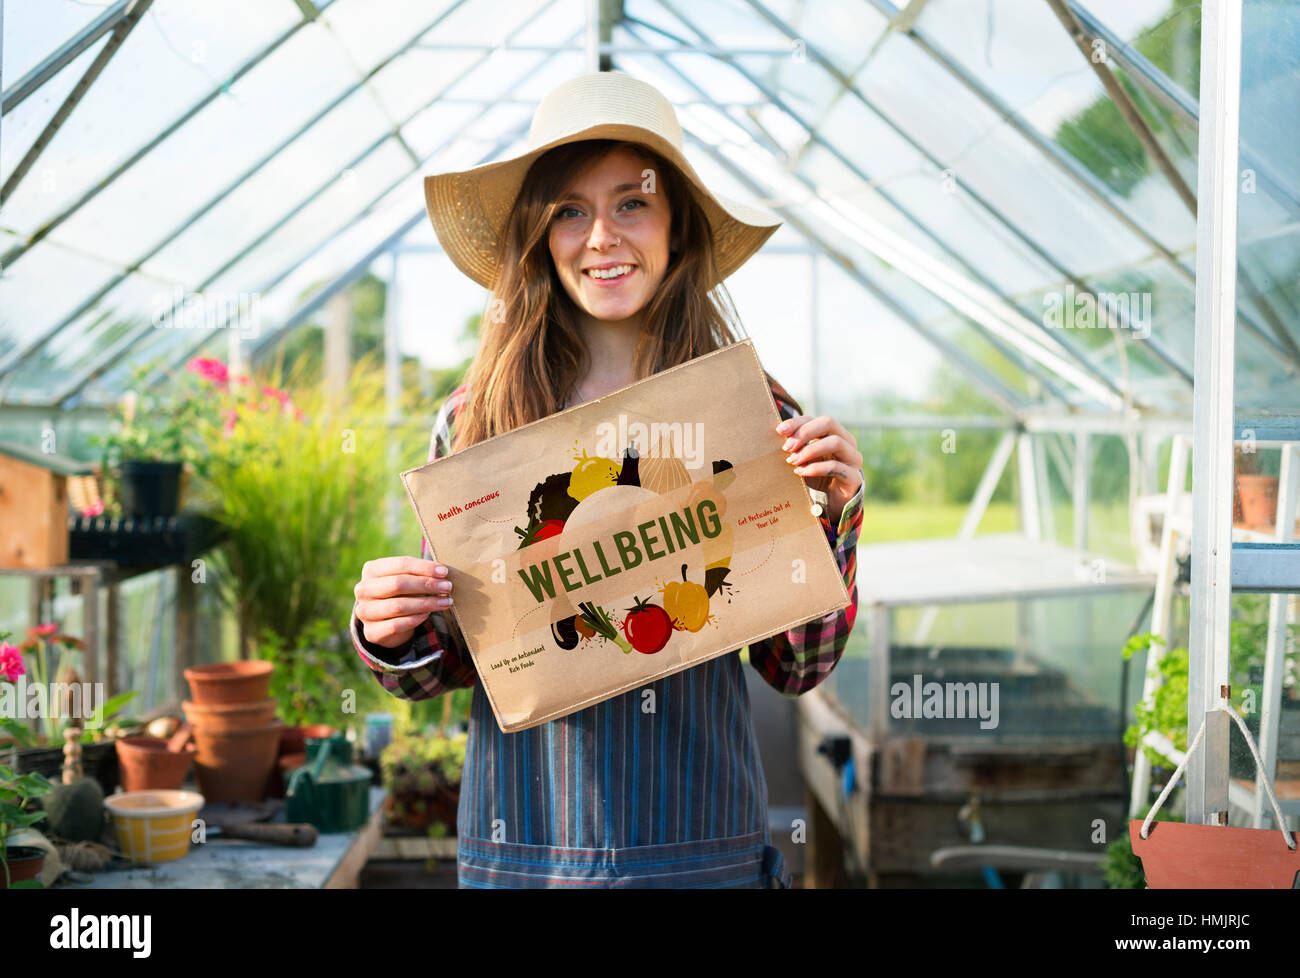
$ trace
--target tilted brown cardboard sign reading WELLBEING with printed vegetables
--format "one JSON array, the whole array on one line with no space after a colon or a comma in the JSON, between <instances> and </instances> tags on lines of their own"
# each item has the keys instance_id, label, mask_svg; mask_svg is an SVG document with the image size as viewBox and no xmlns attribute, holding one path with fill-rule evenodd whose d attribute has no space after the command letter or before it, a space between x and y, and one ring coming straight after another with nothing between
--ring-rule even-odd
<instances>
[{"instance_id":1,"label":"tilted brown cardboard sign reading WELLBEING with printed vegetables","mask_svg":"<svg viewBox=\"0 0 1300 978\"><path fill-rule=\"evenodd\" d=\"M751 341L402 473L497 722L849 605Z\"/></svg>"}]
</instances>

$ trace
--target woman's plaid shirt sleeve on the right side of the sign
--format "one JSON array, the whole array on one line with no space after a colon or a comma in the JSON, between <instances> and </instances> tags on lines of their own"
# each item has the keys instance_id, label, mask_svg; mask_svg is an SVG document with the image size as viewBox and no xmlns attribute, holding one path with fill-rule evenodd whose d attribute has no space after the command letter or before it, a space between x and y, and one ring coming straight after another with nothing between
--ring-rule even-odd
<instances>
[{"instance_id":1,"label":"woman's plaid shirt sleeve on the right side of the sign","mask_svg":"<svg viewBox=\"0 0 1300 978\"><path fill-rule=\"evenodd\" d=\"M781 417L794 417L800 412L780 397L776 406ZM831 670L844 654L849 632L858 614L858 533L862 531L862 501L866 482L858 486L840 514L837 527L824 512L819 516L827 544L840 567L840 576L849 592L849 603L826 618L805 622L789 631L774 635L749 646L749 661L763 680L784 696L798 696L816 687L831 675Z\"/></svg>"}]
</instances>

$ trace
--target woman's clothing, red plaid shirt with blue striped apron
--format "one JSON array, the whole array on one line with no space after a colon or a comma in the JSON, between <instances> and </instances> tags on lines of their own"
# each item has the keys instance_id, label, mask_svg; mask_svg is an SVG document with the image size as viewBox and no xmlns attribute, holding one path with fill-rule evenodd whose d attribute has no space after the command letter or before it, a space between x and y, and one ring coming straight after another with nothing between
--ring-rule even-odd
<instances>
[{"instance_id":1,"label":"woman's clothing, red plaid shirt with blue striped apron","mask_svg":"<svg viewBox=\"0 0 1300 978\"><path fill-rule=\"evenodd\" d=\"M774 384L781 417L798 412ZM451 451L462 385L434 423L429 460ZM829 675L857 614L863 489L838 524L820 523L850 603L749 645L772 688L798 696ZM429 558L421 538L420 555ZM356 609L352 642L391 694L424 700L473 688L458 812L462 887L789 886L767 825L738 649L585 710L502 734L451 615L432 613L411 640L368 641Z\"/></svg>"}]
</instances>

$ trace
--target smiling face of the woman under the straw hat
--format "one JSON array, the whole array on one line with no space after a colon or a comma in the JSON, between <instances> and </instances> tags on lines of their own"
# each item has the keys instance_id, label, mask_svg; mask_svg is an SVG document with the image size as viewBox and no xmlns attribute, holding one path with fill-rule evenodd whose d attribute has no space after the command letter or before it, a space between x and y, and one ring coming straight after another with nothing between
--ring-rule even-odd
<instances>
[{"instance_id":1,"label":"smiling face of the woman under the straw hat","mask_svg":"<svg viewBox=\"0 0 1300 978\"><path fill-rule=\"evenodd\" d=\"M629 150L614 150L559 199L547 242L580 316L637 321L663 281L672 215L664 194L642 189L650 165Z\"/></svg>"}]
</instances>

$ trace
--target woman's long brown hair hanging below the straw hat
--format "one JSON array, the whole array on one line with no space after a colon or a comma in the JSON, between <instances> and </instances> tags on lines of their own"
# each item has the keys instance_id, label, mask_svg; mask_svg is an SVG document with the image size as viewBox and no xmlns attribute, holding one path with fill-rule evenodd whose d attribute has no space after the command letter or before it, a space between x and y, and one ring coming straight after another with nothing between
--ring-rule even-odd
<instances>
[{"instance_id":1,"label":"woman's long brown hair hanging below the straw hat","mask_svg":"<svg viewBox=\"0 0 1300 978\"><path fill-rule=\"evenodd\" d=\"M552 415L573 394L589 355L577 310L551 261L549 230L571 181L620 147L650 161L655 190L667 194L672 215L668 268L645 308L633 380L745 334L731 295L718 282L708 216L681 172L640 143L585 139L558 146L533 161L506 221L495 287L465 377L468 397L456 417L455 450ZM710 289L708 282L718 285Z\"/></svg>"}]
</instances>

